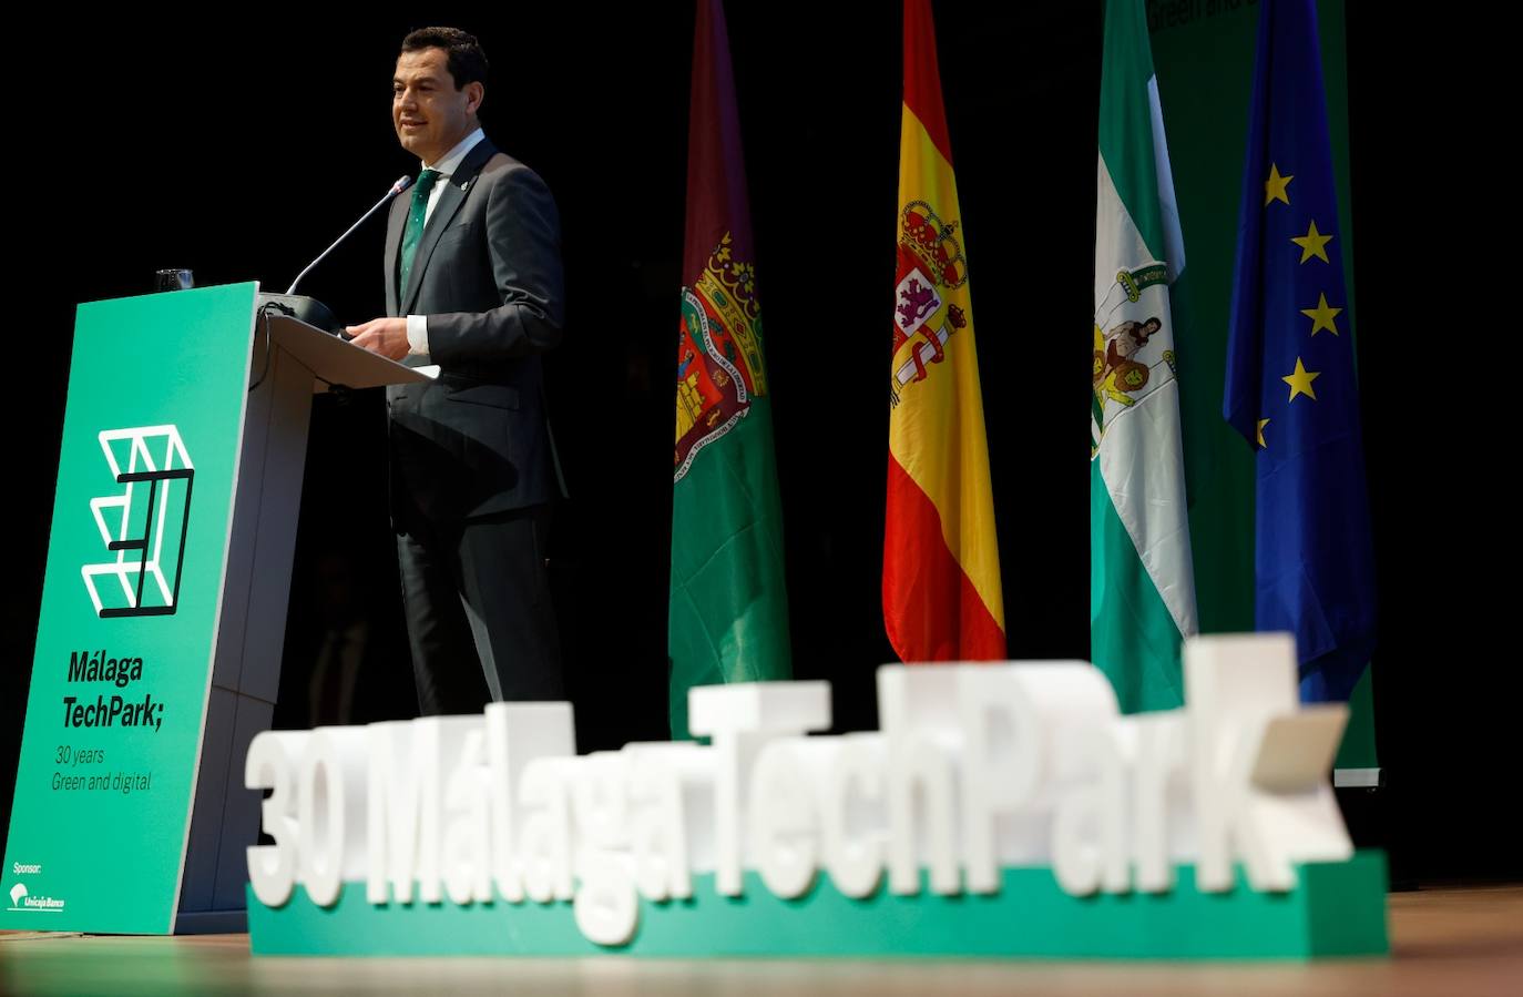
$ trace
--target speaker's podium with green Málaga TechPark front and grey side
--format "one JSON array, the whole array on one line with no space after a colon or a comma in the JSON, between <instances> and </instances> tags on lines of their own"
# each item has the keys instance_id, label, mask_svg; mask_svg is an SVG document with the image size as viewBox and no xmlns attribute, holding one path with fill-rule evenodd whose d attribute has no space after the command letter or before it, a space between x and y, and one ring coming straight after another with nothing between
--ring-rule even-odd
<instances>
[{"instance_id":1,"label":"speaker's podium with green M\u00e1laga TechPark front and grey side","mask_svg":"<svg viewBox=\"0 0 1523 997\"><path fill-rule=\"evenodd\" d=\"M0 928L244 930L312 395L428 380L256 294L79 306Z\"/></svg>"}]
</instances>

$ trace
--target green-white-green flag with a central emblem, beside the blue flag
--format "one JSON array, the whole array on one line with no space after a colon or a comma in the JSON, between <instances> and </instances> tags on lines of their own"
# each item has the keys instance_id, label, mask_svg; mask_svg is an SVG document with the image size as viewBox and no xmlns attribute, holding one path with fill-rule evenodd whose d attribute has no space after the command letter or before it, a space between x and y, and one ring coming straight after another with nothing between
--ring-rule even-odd
<instances>
[{"instance_id":1,"label":"green-white-green flag with a central emblem, beside the blue flag","mask_svg":"<svg viewBox=\"0 0 1523 997\"><path fill-rule=\"evenodd\" d=\"M1090 657L1124 710L1183 703L1197 630L1171 294L1185 273L1142 0L1106 5L1089 424Z\"/></svg>"}]
</instances>

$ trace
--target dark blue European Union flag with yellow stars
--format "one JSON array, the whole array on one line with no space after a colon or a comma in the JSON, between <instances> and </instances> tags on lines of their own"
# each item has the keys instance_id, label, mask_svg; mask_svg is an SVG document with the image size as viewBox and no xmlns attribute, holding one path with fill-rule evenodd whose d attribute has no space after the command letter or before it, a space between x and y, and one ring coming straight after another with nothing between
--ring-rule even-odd
<instances>
[{"instance_id":1,"label":"dark blue European Union flag with yellow stars","mask_svg":"<svg viewBox=\"0 0 1523 997\"><path fill-rule=\"evenodd\" d=\"M1354 335L1313 0L1261 5L1223 416L1258 450L1256 625L1301 698L1346 700L1375 639Z\"/></svg>"}]
</instances>

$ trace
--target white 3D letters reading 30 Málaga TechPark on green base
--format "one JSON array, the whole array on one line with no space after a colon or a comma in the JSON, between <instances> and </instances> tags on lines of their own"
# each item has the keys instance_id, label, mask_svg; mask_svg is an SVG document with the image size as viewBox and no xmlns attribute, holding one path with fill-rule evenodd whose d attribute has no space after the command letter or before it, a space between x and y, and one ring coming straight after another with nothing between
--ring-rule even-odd
<instances>
[{"instance_id":1,"label":"white 3D letters reading 30 M\u00e1laga TechPark on green base","mask_svg":"<svg viewBox=\"0 0 1523 997\"><path fill-rule=\"evenodd\" d=\"M693 877L739 896L996 893L1001 870L1052 869L1075 896L1284 892L1296 864L1352 846L1327 773L1343 706L1301 706L1284 634L1186 643L1183 709L1121 716L1081 662L889 665L882 730L827 736L830 689L693 689L699 744L577 756L565 703L481 716L267 732L245 784L271 790L248 849L259 902L343 884L370 904L570 901L577 928L624 945L640 898ZM748 883L746 874L754 874Z\"/></svg>"}]
</instances>

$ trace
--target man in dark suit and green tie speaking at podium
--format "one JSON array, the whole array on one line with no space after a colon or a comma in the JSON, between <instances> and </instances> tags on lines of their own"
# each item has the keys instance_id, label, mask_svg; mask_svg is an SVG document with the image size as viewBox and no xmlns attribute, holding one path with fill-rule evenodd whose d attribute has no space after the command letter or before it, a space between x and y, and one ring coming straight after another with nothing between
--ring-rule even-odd
<instances>
[{"instance_id":1,"label":"man in dark suit and green tie speaking at podium","mask_svg":"<svg viewBox=\"0 0 1523 997\"><path fill-rule=\"evenodd\" d=\"M425 27L402 41L398 139L423 171L391 204L387 316L356 346L437 364L387 389L391 515L419 704L559 700L545 578L556 474L539 357L560 340L560 235L544 181L477 122L487 63L477 40ZM477 665L480 662L480 665Z\"/></svg>"}]
</instances>

